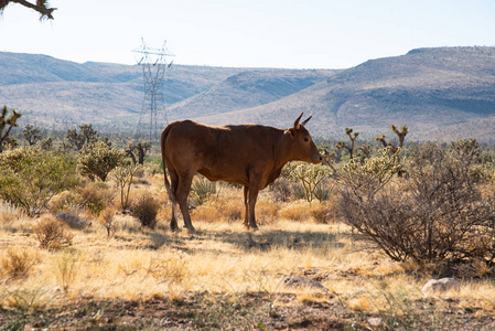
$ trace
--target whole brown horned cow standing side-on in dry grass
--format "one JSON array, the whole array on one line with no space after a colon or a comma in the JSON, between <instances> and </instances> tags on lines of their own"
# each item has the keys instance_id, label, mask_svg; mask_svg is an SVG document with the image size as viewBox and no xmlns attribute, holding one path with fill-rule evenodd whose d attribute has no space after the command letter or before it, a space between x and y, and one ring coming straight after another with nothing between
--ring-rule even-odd
<instances>
[{"instance_id":1,"label":"whole brown horned cow standing side-on in dry grass","mask_svg":"<svg viewBox=\"0 0 495 331\"><path fill-rule=\"evenodd\" d=\"M172 203L170 227L177 229L176 203L184 225L194 231L187 210L187 196L196 172L211 181L227 181L244 185L246 214L244 224L258 228L255 204L259 190L271 184L283 166L293 160L320 163L322 156L304 125L311 116L294 127L282 130L260 125L213 127L191 120L171 122L162 132L163 164L169 169L165 188Z\"/></svg>"}]
</instances>

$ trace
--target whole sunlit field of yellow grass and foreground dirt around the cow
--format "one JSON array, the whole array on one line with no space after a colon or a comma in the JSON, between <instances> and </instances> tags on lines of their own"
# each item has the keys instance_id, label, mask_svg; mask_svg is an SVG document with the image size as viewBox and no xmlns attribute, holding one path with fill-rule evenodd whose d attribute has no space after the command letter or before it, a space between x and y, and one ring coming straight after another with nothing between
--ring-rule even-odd
<instances>
[{"instance_id":1,"label":"whole sunlit field of yellow grass and foreground dirt around the cow","mask_svg":"<svg viewBox=\"0 0 495 331\"><path fill-rule=\"evenodd\" d=\"M486 277L492 269L470 266L470 277L458 289L424 295L423 285L445 266L392 261L338 220L332 197L281 202L267 189L257 204L260 229L249 232L241 224L241 190L219 184L192 211L196 232L173 233L162 175L134 180L131 195L139 192L160 202L154 229L118 212L108 235L101 217L76 210L90 225L66 227L69 244L55 248L40 247L43 217L1 203L0 324L152 330L495 325L495 285Z\"/></svg>"}]
</instances>

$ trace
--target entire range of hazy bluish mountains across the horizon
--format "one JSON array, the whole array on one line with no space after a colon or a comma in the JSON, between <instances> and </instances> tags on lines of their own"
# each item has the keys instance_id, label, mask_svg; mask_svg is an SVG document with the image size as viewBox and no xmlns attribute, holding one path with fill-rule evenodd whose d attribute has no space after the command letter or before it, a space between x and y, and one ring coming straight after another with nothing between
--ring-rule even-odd
<instances>
[{"instance_id":1,"label":"entire range of hazy bluish mountains across the horizon","mask_svg":"<svg viewBox=\"0 0 495 331\"><path fill-rule=\"evenodd\" d=\"M359 139L391 138L395 124L411 140L495 142L495 47L419 49L343 71L177 65L165 79L169 120L286 128L304 111L313 136L325 138L344 139L345 127ZM142 97L137 65L0 53L0 106L25 124L132 130Z\"/></svg>"}]
</instances>

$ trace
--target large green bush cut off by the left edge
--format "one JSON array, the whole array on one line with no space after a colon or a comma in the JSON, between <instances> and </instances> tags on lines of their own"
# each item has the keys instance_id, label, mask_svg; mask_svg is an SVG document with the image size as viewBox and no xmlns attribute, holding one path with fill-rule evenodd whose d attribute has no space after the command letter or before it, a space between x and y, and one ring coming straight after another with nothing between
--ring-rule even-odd
<instances>
[{"instance_id":1,"label":"large green bush cut off by the left edge","mask_svg":"<svg viewBox=\"0 0 495 331\"><path fill-rule=\"evenodd\" d=\"M30 216L40 214L54 195L78 182L75 160L69 156L39 147L0 154L0 197Z\"/></svg>"}]
</instances>

